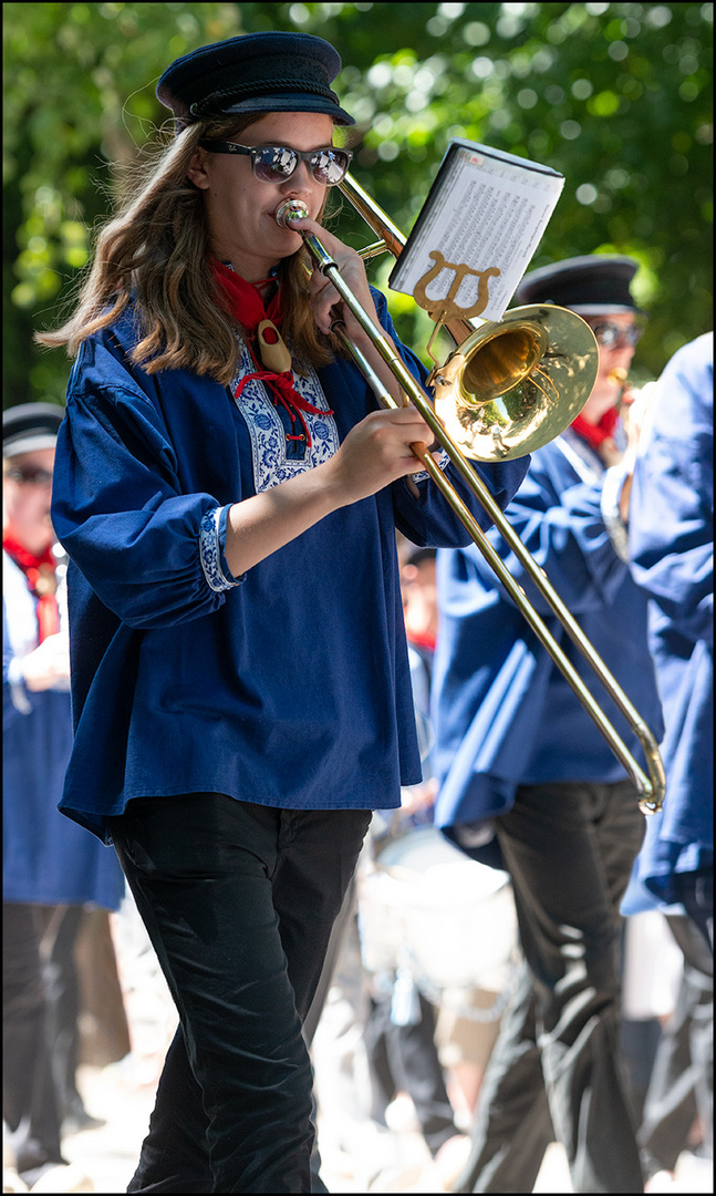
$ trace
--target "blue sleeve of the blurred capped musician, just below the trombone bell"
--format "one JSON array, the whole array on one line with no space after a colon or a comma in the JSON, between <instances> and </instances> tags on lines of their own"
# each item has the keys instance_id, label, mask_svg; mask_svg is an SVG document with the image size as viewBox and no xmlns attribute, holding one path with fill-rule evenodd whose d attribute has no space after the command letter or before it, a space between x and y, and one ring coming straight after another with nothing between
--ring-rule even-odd
<instances>
[{"instance_id":1,"label":"blue sleeve of the blurred capped musician, just below the trombone bell","mask_svg":"<svg viewBox=\"0 0 716 1196\"><path fill-rule=\"evenodd\" d=\"M506 517L522 544L545 570L574 615L600 610L617 593L626 565L614 551L601 509L601 481L580 481L557 444L532 457L527 477ZM550 608L497 531L489 539L540 615ZM498 585L479 551L471 554L481 578Z\"/></svg>"}]
</instances>

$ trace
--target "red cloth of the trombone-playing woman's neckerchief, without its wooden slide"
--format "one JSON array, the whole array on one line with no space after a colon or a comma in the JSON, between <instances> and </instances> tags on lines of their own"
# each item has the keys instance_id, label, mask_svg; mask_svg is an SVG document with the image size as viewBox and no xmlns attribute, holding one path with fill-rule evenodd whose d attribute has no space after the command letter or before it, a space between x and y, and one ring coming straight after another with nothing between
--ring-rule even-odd
<instances>
[{"instance_id":1,"label":"red cloth of the trombone-playing woman's neckerchief, without its wooden slide","mask_svg":"<svg viewBox=\"0 0 716 1196\"><path fill-rule=\"evenodd\" d=\"M224 304L225 311L235 319L241 328L253 336L262 319L270 319L277 328L281 325L283 318L282 306L281 306L281 288L277 287L271 295L268 305L264 306L264 301L258 291L258 287L263 283L246 282L240 274L235 270L230 269L224 262L219 262L212 258L209 262L212 267L212 273L215 281L219 283L222 297L226 303ZM265 279L264 282L273 281ZM257 368L253 373L245 374L237 386L234 398L238 398L244 386L252 378L258 378L264 382L270 390L274 404L281 403L290 415L290 421L295 425L296 415L304 427L302 435L289 437L289 440L301 440L306 438L306 444L308 448L311 447L311 433L308 432L308 425L304 419L304 411L310 411L311 415L332 415L332 411L324 411L320 407L312 407L307 403L305 398L301 398L296 391L293 383L293 372L287 370L284 373L274 373L271 370L262 370L258 367L258 361L256 360L256 353L249 343L249 350L253 358L253 362Z\"/></svg>"}]
</instances>

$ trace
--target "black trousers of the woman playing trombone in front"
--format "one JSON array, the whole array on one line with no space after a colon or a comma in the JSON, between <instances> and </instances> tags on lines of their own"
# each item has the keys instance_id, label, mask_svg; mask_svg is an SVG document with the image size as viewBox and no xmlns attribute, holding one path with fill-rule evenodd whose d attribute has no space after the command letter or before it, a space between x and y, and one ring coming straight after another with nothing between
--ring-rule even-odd
<instances>
[{"instance_id":1,"label":"black trousers of the woman playing trombone in front","mask_svg":"<svg viewBox=\"0 0 716 1196\"><path fill-rule=\"evenodd\" d=\"M216 793L112 819L179 1013L128 1191L311 1191L301 1023L369 822Z\"/></svg>"}]
</instances>

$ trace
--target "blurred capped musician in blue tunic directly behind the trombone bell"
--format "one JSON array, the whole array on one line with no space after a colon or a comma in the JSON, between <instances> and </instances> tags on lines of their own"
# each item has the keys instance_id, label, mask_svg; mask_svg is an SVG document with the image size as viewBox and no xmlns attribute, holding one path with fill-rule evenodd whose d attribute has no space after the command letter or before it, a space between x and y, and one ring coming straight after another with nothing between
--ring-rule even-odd
<instances>
[{"instance_id":1,"label":"blurred capped musician in blue tunic directly behind the trombone bell","mask_svg":"<svg viewBox=\"0 0 716 1196\"><path fill-rule=\"evenodd\" d=\"M600 366L580 417L534 453L507 515L659 734L645 599L610 537L623 477L614 371L628 370L638 340L636 268L620 256L571 258L518 288L518 304L582 315ZM502 537L489 537L636 750ZM617 1041L618 909L643 836L635 786L475 547L439 553L439 603L436 822L476 859L508 868L526 960L458 1190L532 1191L556 1136L575 1191L641 1192Z\"/></svg>"}]
</instances>

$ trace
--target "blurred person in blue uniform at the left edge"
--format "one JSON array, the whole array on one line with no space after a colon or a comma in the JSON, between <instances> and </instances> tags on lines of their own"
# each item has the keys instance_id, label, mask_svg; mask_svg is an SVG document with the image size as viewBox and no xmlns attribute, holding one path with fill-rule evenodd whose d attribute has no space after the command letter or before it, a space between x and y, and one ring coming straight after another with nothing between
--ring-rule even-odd
<instances>
[{"instance_id":1,"label":"blurred person in blue uniform at the left edge","mask_svg":"<svg viewBox=\"0 0 716 1196\"><path fill-rule=\"evenodd\" d=\"M82 907L117 909L124 880L115 854L56 808L72 751L62 553L53 550L50 521L63 415L51 403L23 403L2 416L2 1112L25 1183L86 1191L77 1188L86 1177L65 1164L60 1147L63 1099L79 1100L77 1019L68 1018L62 1051L51 1041L59 1002L49 997L43 952L51 954L54 994L77 987L72 952Z\"/></svg>"}]
</instances>

